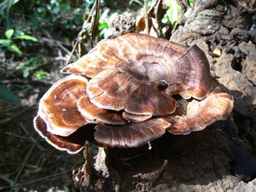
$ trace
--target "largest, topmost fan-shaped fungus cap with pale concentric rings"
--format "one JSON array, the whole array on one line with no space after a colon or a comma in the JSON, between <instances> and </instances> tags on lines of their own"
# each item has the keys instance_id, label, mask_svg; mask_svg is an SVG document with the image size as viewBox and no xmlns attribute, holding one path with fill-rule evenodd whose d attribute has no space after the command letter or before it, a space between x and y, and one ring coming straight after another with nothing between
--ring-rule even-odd
<instances>
[{"instance_id":1,"label":"largest, topmost fan-shaped fungus cap with pale concentric rings","mask_svg":"<svg viewBox=\"0 0 256 192\"><path fill-rule=\"evenodd\" d=\"M93 78L108 68L123 68L143 79L178 84L180 95L186 99L203 99L212 90L207 57L196 45L186 47L139 33L102 40L61 73Z\"/></svg>"}]
</instances>

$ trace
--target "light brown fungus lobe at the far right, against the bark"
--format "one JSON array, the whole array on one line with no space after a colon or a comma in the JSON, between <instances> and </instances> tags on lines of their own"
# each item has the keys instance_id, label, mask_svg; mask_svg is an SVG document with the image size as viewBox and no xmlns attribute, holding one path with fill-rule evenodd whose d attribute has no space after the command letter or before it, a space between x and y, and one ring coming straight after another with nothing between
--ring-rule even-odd
<instances>
[{"instance_id":1,"label":"light brown fungus lobe at the far right, against the bark","mask_svg":"<svg viewBox=\"0 0 256 192\"><path fill-rule=\"evenodd\" d=\"M227 93L212 94L201 101L194 99L189 102L186 115L166 118L172 124L167 130L180 135L201 131L216 120L227 119L232 109L233 97Z\"/></svg>"}]
</instances>

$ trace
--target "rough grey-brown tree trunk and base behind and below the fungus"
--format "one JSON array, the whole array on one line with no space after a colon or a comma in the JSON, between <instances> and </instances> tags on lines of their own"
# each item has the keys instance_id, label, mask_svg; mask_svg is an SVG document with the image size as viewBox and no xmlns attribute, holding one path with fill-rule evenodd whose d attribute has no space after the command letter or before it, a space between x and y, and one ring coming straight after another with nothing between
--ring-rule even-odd
<instances>
[{"instance_id":1,"label":"rough grey-brown tree trunk and base behind and below the fungus","mask_svg":"<svg viewBox=\"0 0 256 192\"><path fill-rule=\"evenodd\" d=\"M94 171L80 191L256 190L255 1L198 0L184 10L171 40L205 51L212 76L235 97L230 119L187 136L166 133L152 149L108 148L108 177Z\"/></svg>"}]
</instances>

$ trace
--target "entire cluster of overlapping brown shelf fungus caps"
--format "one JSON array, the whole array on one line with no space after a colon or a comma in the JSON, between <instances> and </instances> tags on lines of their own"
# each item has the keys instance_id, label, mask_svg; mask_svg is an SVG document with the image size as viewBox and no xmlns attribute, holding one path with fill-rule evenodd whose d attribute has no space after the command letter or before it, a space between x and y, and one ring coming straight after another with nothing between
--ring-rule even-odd
<instances>
[{"instance_id":1,"label":"entire cluster of overlapping brown shelf fungus caps","mask_svg":"<svg viewBox=\"0 0 256 192\"><path fill-rule=\"evenodd\" d=\"M72 74L42 97L34 126L68 153L85 141L135 148L166 130L201 131L233 108L201 49L143 34L102 40L61 73Z\"/></svg>"}]
</instances>

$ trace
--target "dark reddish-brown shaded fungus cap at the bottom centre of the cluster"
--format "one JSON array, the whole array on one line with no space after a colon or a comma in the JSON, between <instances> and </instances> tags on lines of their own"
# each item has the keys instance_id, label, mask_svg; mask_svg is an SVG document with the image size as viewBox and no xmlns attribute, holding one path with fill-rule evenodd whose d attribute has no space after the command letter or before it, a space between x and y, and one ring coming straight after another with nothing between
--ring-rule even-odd
<instances>
[{"instance_id":1,"label":"dark reddish-brown shaded fungus cap at the bottom centre of the cluster","mask_svg":"<svg viewBox=\"0 0 256 192\"><path fill-rule=\"evenodd\" d=\"M169 126L164 119L149 119L123 126L96 125L95 139L112 148L137 148L161 137Z\"/></svg>"}]
</instances>

